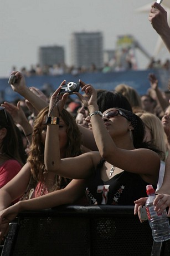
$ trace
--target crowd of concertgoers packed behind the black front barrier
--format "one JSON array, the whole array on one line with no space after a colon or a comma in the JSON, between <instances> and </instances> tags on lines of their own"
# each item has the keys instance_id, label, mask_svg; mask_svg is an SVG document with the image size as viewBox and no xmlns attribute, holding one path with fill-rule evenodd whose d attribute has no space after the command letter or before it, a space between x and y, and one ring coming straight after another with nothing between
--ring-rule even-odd
<instances>
[{"instance_id":1,"label":"crowd of concertgoers packed behind the black front barrier","mask_svg":"<svg viewBox=\"0 0 170 256\"><path fill-rule=\"evenodd\" d=\"M166 11L154 3L149 20L170 51ZM48 97L28 87L23 73L12 74L12 90L24 100L3 102L0 109L0 239L23 210L75 203L135 205L140 217L147 184L157 190L155 210L170 206L168 85L162 92L150 74L151 88L140 96L125 84L106 91L80 81L81 93L71 100L60 93L66 81ZM7 141L9 134L16 139Z\"/></svg>"}]
</instances>

